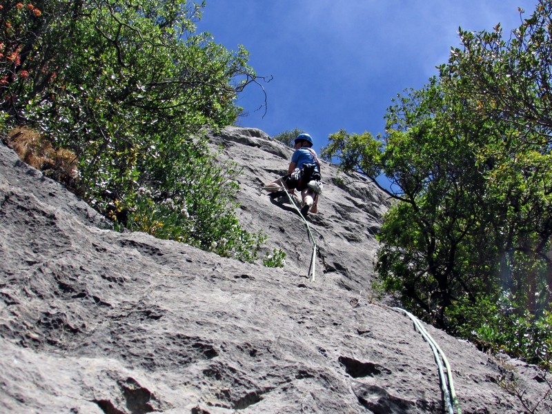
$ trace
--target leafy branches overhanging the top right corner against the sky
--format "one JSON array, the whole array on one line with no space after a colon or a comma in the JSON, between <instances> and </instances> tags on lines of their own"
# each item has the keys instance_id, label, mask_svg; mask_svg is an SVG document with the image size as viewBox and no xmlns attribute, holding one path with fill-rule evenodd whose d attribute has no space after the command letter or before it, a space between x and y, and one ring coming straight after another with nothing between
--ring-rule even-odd
<instances>
[{"instance_id":1,"label":"leafy branches overhanging the top right corner against the sky","mask_svg":"<svg viewBox=\"0 0 552 414\"><path fill-rule=\"evenodd\" d=\"M492 32L460 28L464 50L451 50L449 63L440 66L442 79L456 83L457 92L484 117L511 122L520 131L549 132L551 13L551 1L538 1L531 17L505 39L500 23Z\"/></svg>"}]
</instances>

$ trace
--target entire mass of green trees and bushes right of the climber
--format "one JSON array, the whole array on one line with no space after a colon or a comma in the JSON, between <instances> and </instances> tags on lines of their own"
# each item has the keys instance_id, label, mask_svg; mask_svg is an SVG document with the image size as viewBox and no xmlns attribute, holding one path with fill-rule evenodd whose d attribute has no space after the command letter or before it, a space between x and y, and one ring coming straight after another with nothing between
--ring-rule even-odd
<instances>
[{"instance_id":1,"label":"entire mass of green trees and bushes right of the climber","mask_svg":"<svg viewBox=\"0 0 552 414\"><path fill-rule=\"evenodd\" d=\"M391 181L377 286L450 333L532 362L550 346L551 12L540 1L510 41L500 26L460 30L464 50L393 101L384 137L342 130L322 151Z\"/></svg>"}]
</instances>

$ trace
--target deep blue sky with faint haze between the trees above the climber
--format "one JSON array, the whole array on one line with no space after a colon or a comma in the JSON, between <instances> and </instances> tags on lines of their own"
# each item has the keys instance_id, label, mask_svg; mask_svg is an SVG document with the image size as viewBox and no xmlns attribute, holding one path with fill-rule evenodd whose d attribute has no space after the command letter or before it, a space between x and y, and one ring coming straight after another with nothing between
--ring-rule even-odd
<instances>
[{"instance_id":1,"label":"deep blue sky with faint haze between the trees above the climber","mask_svg":"<svg viewBox=\"0 0 552 414\"><path fill-rule=\"evenodd\" d=\"M299 128L315 149L328 135L384 132L391 99L419 89L446 63L457 31L504 33L529 17L537 0L207 0L199 32L230 50L243 45L264 83L237 101L248 116L237 124L273 136Z\"/></svg>"}]
</instances>

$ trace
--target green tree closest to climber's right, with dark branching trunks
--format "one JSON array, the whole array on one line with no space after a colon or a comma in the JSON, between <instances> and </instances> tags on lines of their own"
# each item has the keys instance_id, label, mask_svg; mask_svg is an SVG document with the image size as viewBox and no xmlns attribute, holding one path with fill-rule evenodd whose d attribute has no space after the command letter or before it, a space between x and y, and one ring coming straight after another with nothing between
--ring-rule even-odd
<instances>
[{"instance_id":1,"label":"green tree closest to climber's right, with dark branching trunks","mask_svg":"<svg viewBox=\"0 0 552 414\"><path fill-rule=\"evenodd\" d=\"M471 146L491 131L475 120L460 130L456 119L463 111L462 102L431 79L389 108L384 141L342 131L322 152L376 183L382 174L391 181L391 190L382 188L397 201L378 235L382 282L408 308L444 328L458 297L466 293L475 300L493 287L489 275L477 277L489 252L473 257L466 248L474 243L489 249L476 218L484 214L476 199L484 178L473 168Z\"/></svg>"}]
</instances>

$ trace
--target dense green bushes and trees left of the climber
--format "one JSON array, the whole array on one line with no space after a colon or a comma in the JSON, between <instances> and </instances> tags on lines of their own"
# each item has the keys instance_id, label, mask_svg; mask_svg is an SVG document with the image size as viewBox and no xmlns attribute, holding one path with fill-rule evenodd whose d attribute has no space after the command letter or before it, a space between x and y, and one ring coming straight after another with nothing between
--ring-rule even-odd
<instances>
[{"instance_id":1,"label":"dense green bushes and trees left of the climber","mask_svg":"<svg viewBox=\"0 0 552 414\"><path fill-rule=\"evenodd\" d=\"M0 8L6 127L30 124L75 152L77 192L119 227L255 259L264 236L235 217L235 166L204 141L241 111L248 52L195 34L204 3L40 4Z\"/></svg>"}]
</instances>

